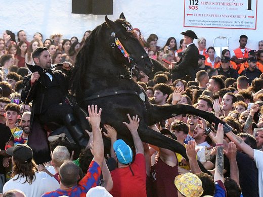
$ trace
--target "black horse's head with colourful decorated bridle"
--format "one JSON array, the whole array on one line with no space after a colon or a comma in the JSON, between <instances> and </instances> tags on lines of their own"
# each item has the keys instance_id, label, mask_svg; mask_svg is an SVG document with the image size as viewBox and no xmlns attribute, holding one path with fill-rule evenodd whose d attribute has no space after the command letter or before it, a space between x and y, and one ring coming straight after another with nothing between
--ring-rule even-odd
<instances>
[{"instance_id":1,"label":"black horse's head with colourful decorated bridle","mask_svg":"<svg viewBox=\"0 0 263 197\"><path fill-rule=\"evenodd\" d=\"M133 27L125 20L123 13L120 19L114 22L105 16L105 21L110 29L109 36L114 48L113 56L127 67L132 68L133 65L136 65L145 74L152 72L153 63L140 44Z\"/></svg>"}]
</instances>

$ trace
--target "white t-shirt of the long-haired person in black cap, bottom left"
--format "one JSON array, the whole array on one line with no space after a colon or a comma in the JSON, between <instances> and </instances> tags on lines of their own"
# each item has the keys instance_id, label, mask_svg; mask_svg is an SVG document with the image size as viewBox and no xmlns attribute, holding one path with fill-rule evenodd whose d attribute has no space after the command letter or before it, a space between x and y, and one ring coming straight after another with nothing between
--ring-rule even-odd
<instances>
[{"instance_id":1,"label":"white t-shirt of the long-haired person in black cap, bottom left","mask_svg":"<svg viewBox=\"0 0 263 197\"><path fill-rule=\"evenodd\" d=\"M31 185L28 182L25 182L25 177L14 180L17 177L18 175L6 182L3 188L3 193L10 189L19 189L23 191L27 197L40 197L48 191L54 191L60 188L59 182L46 172L35 172L35 180Z\"/></svg>"}]
</instances>

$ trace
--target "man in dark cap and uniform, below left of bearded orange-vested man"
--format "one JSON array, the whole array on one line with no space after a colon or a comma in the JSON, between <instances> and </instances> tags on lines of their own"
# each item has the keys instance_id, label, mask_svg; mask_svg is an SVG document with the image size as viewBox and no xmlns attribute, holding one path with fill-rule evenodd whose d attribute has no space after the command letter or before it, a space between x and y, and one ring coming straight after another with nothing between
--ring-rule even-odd
<instances>
[{"instance_id":1,"label":"man in dark cap and uniform, below left of bearded orange-vested man","mask_svg":"<svg viewBox=\"0 0 263 197\"><path fill-rule=\"evenodd\" d=\"M238 78L237 70L230 68L230 58L229 57L222 57L220 67L217 68L218 75L224 75L227 78Z\"/></svg>"}]
</instances>

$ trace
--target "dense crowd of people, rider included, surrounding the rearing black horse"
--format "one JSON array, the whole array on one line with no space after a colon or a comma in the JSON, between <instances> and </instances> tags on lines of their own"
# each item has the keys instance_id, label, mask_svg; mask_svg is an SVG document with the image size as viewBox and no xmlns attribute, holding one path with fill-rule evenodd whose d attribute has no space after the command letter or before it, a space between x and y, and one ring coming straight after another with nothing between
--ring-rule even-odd
<instances>
[{"instance_id":1,"label":"dense crowd of people, rider included, surrounding the rearing black horse","mask_svg":"<svg viewBox=\"0 0 263 197\"><path fill-rule=\"evenodd\" d=\"M117 139L111 125L103 125L102 132L104 109L92 105L86 117L92 128L85 131L87 140L64 96L76 55L91 31L84 32L81 41L75 36L61 39L59 33L43 40L36 32L29 42L25 31L19 31L16 39L6 30L0 38L3 196L263 196L263 41L252 50L246 47L248 37L241 35L236 49L218 56L191 30L181 33L179 47L174 37L160 47L157 35L145 41L138 28L133 32L161 68L152 76L133 73L152 104L191 105L214 114L233 130L224 133L223 125L192 114L150 126L185 146L188 158L184 158L142 142L136 114L127 114L129 122L123 123L134 147ZM59 63L63 67L51 70ZM29 65L41 69L31 72ZM43 70L48 72L40 73ZM53 121L65 125L81 153L72 149L65 135L50 136L51 161L36 164L27 142L37 121L42 126ZM102 136L111 142L107 158Z\"/></svg>"}]
</instances>

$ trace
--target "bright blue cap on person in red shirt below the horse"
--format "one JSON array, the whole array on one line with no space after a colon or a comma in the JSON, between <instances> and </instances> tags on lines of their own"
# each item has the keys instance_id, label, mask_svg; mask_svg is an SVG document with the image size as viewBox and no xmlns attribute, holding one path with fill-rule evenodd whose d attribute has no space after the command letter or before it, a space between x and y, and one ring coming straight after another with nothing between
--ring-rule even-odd
<instances>
[{"instance_id":1,"label":"bright blue cap on person in red shirt below the horse","mask_svg":"<svg viewBox=\"0 0 263 197\"><path fill-rule=\"evenodd\" d=\"M116 153L119 163L129 164L133 161L133 152L122 139L118 139L113 143L113 150Z\"/></svg>"}]
</instances>

